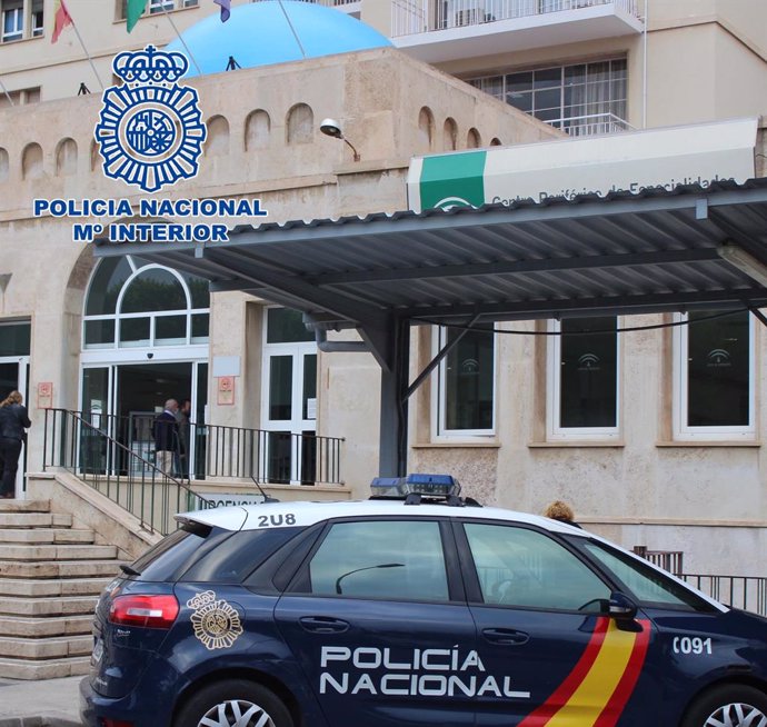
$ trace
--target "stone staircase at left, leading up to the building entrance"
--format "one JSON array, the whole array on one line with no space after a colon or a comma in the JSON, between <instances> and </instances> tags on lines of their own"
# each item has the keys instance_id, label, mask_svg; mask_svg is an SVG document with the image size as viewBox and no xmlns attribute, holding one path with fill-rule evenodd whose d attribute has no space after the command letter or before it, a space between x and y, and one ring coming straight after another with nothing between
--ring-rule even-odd
<instances>
[{"instance_id":1,"label":"stone staircase at left, leading up to the building entrance","mask_svg":"<svg viewBox=\"0 0 767 727\"><path fill-rule=\"evenodd\" d=\"M123 560L72 526L49 500L0 500L0 678L88 671L93 608Z\"/></svg>"}]
</instances>

